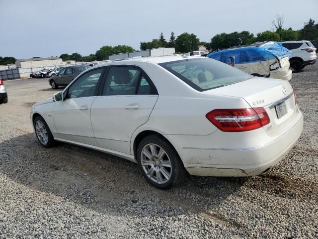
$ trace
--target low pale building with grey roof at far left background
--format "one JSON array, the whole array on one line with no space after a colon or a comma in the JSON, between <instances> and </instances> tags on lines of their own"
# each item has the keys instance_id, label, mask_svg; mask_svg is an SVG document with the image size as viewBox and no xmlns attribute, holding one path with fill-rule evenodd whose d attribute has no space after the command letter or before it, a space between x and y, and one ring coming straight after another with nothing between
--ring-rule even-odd
<instances>
[{"instance_id":1,"label":"low pale building with grey roof at far left background","mask_svg":"<svg viewBox=\"0 0 318 239\"><path fill-rule=\"evenodd\" d=\"M60 57L17 59L15 65L20 68L52 67L62 65Z\"/></svg>"}]
</instances>

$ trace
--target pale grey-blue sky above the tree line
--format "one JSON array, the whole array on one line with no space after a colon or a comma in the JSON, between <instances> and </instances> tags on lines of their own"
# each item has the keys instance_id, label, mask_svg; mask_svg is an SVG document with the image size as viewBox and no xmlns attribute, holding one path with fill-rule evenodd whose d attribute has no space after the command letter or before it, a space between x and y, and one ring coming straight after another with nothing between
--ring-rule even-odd
<instances>
[{"instance_id":1,"label":"pale grey-blue sky above the tree line","mask_svg":"<svg viewBox=\"0 0 318 239\"><path fill-rule=\"evenodd\" d=\"M0 0L0 56L88 55L118 44L139 50L140 41L160 32L169 40L171 31L210 42L217 33L270 30L276 14L293 29L318 21L318 0L293 1Z\"/></svg>"}]
</instances>

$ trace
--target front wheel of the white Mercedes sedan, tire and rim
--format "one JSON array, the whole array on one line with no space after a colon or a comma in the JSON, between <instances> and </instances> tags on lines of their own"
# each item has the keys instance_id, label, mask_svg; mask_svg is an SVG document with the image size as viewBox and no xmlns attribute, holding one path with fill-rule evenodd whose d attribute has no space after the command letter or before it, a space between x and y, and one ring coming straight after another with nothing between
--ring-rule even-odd
<instances>
[{"instance_id":1,"label":"front wheel of the white Mercedes sedan, tire and rim","mask_svg":"<svg viewBox=\"0 0 318 239\"><path fill-rule=\"evenodd\" d=\"M54 145L54 138L51 130L41 116L37 116L33 122L36 138L41 146L50 148Z\"/></svg>"}]
</instances>

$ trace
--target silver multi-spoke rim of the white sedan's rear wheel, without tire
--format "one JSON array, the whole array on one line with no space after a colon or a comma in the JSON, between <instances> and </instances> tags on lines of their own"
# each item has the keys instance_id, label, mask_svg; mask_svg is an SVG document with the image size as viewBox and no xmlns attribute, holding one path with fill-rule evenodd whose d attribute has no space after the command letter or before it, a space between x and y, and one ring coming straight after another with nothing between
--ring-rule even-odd
<instances>
[{"instance_id":1,"label":"silver multi-spoke rim of the white sedan's rear wheel, without tire","mask_svg":"<svg viewBox=\"0 0 318 239\"><path fill-rule=\"evenodd\" d=\"M163 148L154 143L146 144L140 156L142 168L153 182L164 184L170 180L172 165Z\"/></svg>"}]
</instances>

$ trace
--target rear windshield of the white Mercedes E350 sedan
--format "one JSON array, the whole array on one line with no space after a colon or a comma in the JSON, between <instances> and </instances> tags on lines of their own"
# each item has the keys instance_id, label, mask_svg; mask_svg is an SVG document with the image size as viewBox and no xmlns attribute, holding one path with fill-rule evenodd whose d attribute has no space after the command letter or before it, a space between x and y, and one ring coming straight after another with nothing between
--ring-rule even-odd
<instances>
[{"instance_id":1,"label":"rear windshield of the white Mercedes E350 sedan","mask_svg":"<svg viewBox=\"0 0 318 239\"><path fill-rule=\"evenodd\" d=\"M235 84L253 77L235 67L206 57L170 61L159 65L201 92Z\"/></svg>"}]
</instances>

